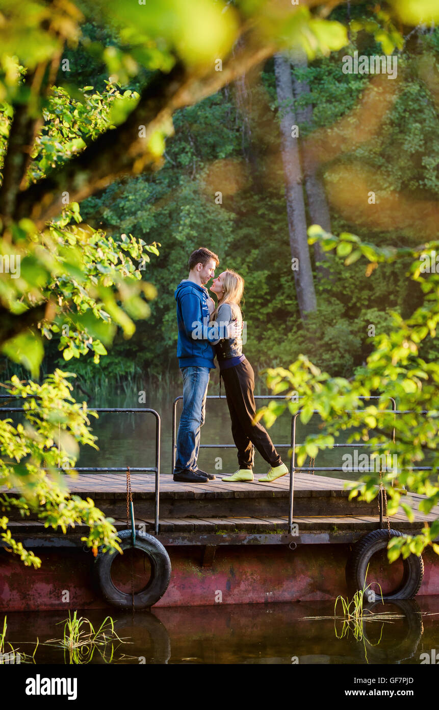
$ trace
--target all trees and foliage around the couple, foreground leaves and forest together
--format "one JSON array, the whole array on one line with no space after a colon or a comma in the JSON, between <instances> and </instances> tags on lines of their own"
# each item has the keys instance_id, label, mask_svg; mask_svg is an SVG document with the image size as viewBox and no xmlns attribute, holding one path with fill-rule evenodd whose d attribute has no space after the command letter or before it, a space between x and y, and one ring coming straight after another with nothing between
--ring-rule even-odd
<instances>
[{"instance_id":1,"label":"all trees and foliage around the couple, foreground leaves and forest together","mask_svg":"<svg viewBox=\"0 0 439 710\"><path fill-rule=\"evenodd\" d=\"M0 273L0 383L24 417L0 420L0 484L23 493L1 512L117 546L59 471L96 449L98 395L180 392L174 289L199 246L245 279L245 354L288 398L267 425L287 407L326 422L299 466L353 430L397 452L424 512L439 502L438 9L296 5L0 0L1 265L21 258ZM397 72L345 73L355 53ZM416 414L395 420L389 397ZM395 512L381 474L361 492L384 484ZM438 535L401 544L439 552Z\"/></svg>"}]
</instances>

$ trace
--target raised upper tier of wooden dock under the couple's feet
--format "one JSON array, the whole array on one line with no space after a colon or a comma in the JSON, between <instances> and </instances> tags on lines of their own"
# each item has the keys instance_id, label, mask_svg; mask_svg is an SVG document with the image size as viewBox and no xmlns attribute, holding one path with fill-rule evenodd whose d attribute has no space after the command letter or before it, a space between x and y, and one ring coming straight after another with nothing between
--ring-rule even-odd
<instances>
[{"instance_id":1,"label":"raised upper tier of wooden dock under the couple's feet","mask_svg":"<svg viewBox=\"0 0 439 710\"><path fill-rule=\"evenodd\" d=\"M262 472L263 473L263 472ZM256 476L257 478L257 476ZM154 513L154 476L153 474L131 474L133 498L135 501L136 519L150 518ZM65 482L70 490L83 497L94 498L96 506L100 507L106 515L123 520L126 506L126 476L124 473L108 474L78 474L77 479L65 476ZM343 479L332 476L310 476L306 473L296 473L294 481L294 520L296 518L314 520L325 518L326 522L337 524L333 518L357 519L362 525L372 525L377 521L377 502L371 504L348 500L349 490L345 488ZM352 483L352 482L351 482ZM15 489L3 490L9 494L18 495ZM224 520L228 516L234 518L253 517L258 520L269 518L282 518L288 512L289 476L283 476L272 484L263 484L259 481L230 484L222 482L221 476L207 484L184 484L173 481L172 475L161 476L160 506L161 513L166 520L171 518L186 518L187 516L202 520ZM404 525L404 528L416 528L425 521L435 520L439 515L439 506L435 506L428 515L417 510L416 506L423 496L409 493L407 503L413 508L414 521L409 523L405 513L400 509L391 516L391 523ZM32 515L32 519L35 516ZM13 520L13 513L11 515ZM21 516L18 518L21 521ZM26 522L29 522L28 520ZM215 523L216 524L216 523ZM323 520L322 520L323 524ZM340 524L341 521L340 521Z\"/></svg>"}]
</instances>

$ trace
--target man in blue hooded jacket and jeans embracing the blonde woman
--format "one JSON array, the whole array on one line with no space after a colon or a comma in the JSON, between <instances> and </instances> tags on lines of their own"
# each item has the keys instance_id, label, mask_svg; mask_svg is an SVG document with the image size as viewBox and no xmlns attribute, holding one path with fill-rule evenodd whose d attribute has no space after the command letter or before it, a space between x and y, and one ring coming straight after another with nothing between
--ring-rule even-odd
<instances>
[{"instance_id":1,"label":"man in blue hooded jacket and jeans embracing the blonde woman","mask_svg":"<svg viewBox=\"0 0 439 710\"><path fill-rule=\"evenodd\" d=\"M177 301L177 358L183 378L183 410L177 435L177 458L174 481L206 483L213 474L201 471L196 461L200 445L200 428L206 413L207 386L213 364L211 343L218 342L218 333L209 327L209 317L215 308L205 288L215 275L219 259L209 249L196 249L189 257L189 276L175 290ZM236 323L227 327L228 337L235 338Z\"/></svg>"}]
</instances>

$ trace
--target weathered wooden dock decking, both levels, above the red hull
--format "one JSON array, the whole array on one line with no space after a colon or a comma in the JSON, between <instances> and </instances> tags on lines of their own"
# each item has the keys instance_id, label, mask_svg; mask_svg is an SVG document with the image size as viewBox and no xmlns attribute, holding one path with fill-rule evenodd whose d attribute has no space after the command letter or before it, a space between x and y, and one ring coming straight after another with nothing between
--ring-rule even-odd
<instances>
[{"instance_id":1,"label":"weathered wooden dock decking, both levels, above the red hull","mask_svg":"<svg viewBox=\"0 0 439 710\"><path fill-rule=\"evenodd\" d=\"M114 518L118 530L126 523L125 474L77 474L66 476L70 491L90 497L103 512ZM131 474L135 522L140 529L154 532L154 476ZM160 476L159 538L165 545L261 545L350 543L379 527L377 499L372 503L349 500L352 482L328 476L295 474L294 535L288 531L289 476L273 484L224 483L218 476L206 484L184 484L172 476ZM13 494L15 491L9 491ZM409 493L414 520L400 510L391 516L391 527L416 534L424 523L439 517L439 506L429 515L417 510L422 496ZM15 519L13 519L15 517ZM44 528L36 516L19 518L11 511L11 530L23 544L78 545L85 526L67 533ZM43 537L44 536L44 540Z\"/></svg>"}]
</instances>

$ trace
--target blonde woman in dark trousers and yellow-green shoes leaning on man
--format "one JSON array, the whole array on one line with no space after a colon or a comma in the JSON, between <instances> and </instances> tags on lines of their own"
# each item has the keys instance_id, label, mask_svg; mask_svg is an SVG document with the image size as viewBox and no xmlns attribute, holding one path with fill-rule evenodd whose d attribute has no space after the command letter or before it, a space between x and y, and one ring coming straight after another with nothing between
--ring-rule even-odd
<instances>
[{"instance_id":1,"label":"blonde woman in dark trousers and yellow-green shoes leaning on man","mask_svg":"<svg viewBox=\"0 0 439 710\"><path fill-rule=\"evenodd\" d=\"M213 311L211 320L219 327L218 334L224 332L226 326L237 320L242 325L243 317L240 311L240 301L243 297L244 280L233 271L223 271L213 279L210 290L218 298L218 305ZM241 329L239 329L241 332ZM260 481L275 481L288 473L287 466L277 453L266 430L258 422L253 424L255 416L255 374L252 366L243 355L243 340L239 335L235 339L219 339L213 343L220 368L220 383L223 378L226 388L228 410L232 420L232 435L238 449L239 469L232 476L225 476L223 481L253 480L253 444L270 469L267 476Z\"/></svg>"}]
</instances>

